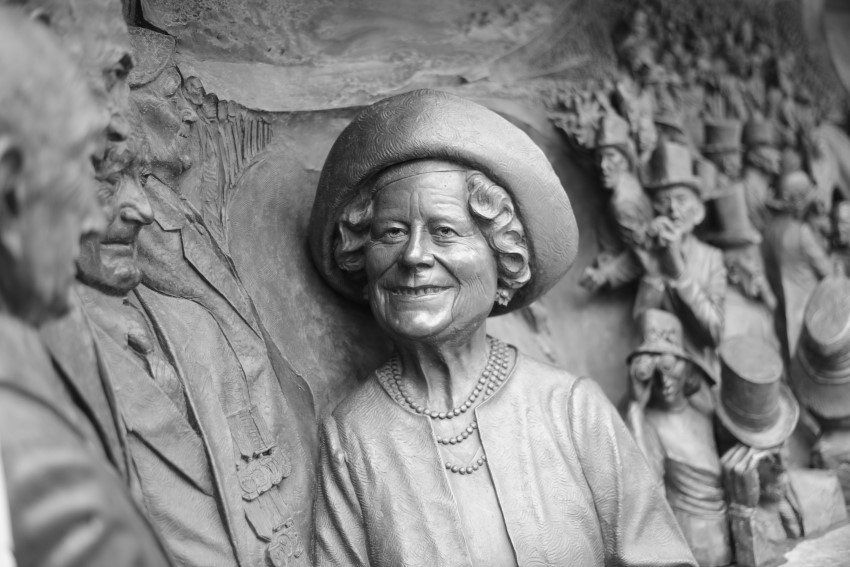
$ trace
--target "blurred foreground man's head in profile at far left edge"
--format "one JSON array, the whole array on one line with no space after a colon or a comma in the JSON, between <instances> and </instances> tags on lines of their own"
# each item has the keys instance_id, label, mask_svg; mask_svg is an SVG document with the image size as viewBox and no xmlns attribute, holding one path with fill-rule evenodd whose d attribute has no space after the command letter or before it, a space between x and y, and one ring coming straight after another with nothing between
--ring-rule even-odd
<instances>
[{"instance_id":1,"label":"blurred foreground man's head in profile at far left edge","mask_svg":"<svg viewBox=\"0 0 850 567\"><path fill-rule=\"evenodd\" d=\"M103 226L92 161L105 123L42 24L0 13L0 306L63 314L80 238Z\"/></svg>"}]
</instances>

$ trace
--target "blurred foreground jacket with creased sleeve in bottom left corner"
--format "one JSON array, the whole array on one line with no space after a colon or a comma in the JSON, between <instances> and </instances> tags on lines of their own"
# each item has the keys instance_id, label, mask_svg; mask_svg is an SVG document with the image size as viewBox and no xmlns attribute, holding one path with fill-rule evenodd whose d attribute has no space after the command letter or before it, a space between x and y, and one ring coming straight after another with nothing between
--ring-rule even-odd
<instances>
[{"instance_id":1,"label":"blurred foreground jacket with creased sleeve in bottom left corner","mask_svg":"<svg viewBox=\"0 0 850 567\"><path fill-rule=\"evenodd\" d=\"M0 461L18 565L170 565L36 331L0 315L0 350Z\"/></svg>"}]
</instances>

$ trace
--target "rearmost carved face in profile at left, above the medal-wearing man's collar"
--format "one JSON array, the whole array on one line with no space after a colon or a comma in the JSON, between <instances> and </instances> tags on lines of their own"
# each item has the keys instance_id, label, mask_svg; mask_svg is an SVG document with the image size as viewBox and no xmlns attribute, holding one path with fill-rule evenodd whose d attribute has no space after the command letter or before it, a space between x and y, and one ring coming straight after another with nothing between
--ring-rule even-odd
<instances>
[{"instance_id":1,"label":"rearmost carved face in profile at left, above the medal-wearing man's collar","mask_svg":"<svg viewBox=\"0 0 850 567\"><path fill-rule=\"evenodd\" d=\"M177 67L168 65L154 80L132 91L150 145L151 174L170 187L176 187L180 175L192 165L189 134L198 120L182 86Z\"/></svg>"}]
</instances>

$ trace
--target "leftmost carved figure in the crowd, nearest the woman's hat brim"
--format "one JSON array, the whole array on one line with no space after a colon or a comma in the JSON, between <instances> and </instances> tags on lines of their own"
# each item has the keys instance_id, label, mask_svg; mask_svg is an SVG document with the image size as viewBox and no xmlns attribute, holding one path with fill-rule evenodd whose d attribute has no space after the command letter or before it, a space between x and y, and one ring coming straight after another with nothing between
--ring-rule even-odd
<instances>
[{"instance_id":1,"label":"leftmost carved figure in the crowd, nearest the woman's hat brim","mask_svg":"<svg viewBox=\"0 0 850 567\"><path fill-rule=\"evenodd\" d=\"M604 242L603 253L581 279L591 292L616 289L635 281L641 265L634 249L645 245L646 229L653 210L637 177L637 155L628 122L611 111L599 122L595 155L599 177L608 196L608 214L614 222L616 242Z\"/></svg>"}]
</instances>

